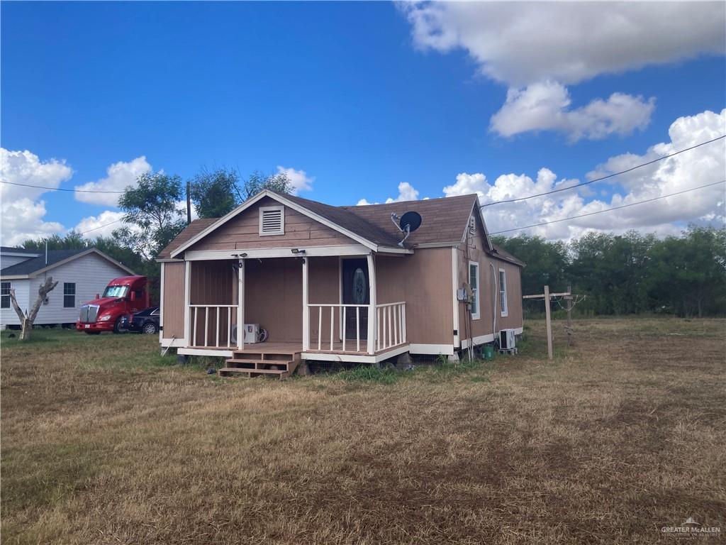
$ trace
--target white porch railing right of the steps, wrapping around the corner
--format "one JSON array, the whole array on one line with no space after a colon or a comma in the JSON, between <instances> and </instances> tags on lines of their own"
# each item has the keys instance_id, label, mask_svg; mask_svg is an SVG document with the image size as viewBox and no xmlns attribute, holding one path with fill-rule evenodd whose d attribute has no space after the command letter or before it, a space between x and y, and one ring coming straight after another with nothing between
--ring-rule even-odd
<instances>
[{"instance_id":1,"label":"white porch railing right of the steps, wrapping around the corner","mask_svg":"<svg viewBox=\"0 0 726 545\"><path fill-rule=\"evenodd\" d=\"M386 303L375 306L375 312L371 312L370 304L315 304L307 305L308 318L314 320L315 316L310 316L311 309L317 309L317 344L311 339L309 347L311 350L319 350L325 352L370 352L374 350L386 350L398 344L406 342L406 303ZM335 331L336 310L338 310L338 335ZM361 338L361 323L364 311L367 312L367 320L369 320L367 331L371 331L370 320L375 320L375 337L374 339ZM355 337L348 339L348 320L355 315ZM314 322L313 322L314 323ZM323 330L325 336L323 335ZM337 342L336 337L340 339ZM361 341L363 341L363 350L361 350ZM353 348L355 347L355 350Z\"/></svg>"}]
</instances>

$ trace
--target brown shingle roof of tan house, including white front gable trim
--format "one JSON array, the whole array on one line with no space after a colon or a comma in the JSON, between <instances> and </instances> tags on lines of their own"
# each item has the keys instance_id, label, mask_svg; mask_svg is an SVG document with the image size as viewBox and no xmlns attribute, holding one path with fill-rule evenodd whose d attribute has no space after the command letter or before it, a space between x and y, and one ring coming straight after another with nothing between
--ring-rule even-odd
<instances>
[{"instance_id":1,"label":"brown shingle roof of tan house, including white front gable trim","mask_svg":"<svg viewBox=\"0 0 726 545\"><path fill-rule=\"evenodd\" d=\"M197 219L187 225L174 241L171 241L160 252L158 259L176 257L176 254L180 254L184 249L200 241L205 235L224 225L224 223L265 196L287 204L302 214L325 223L325 225L354 238L354 240L375 251L401 251L398 243L403 235L401 235L396 225L391 222L392 213L400 216L406 211L415 210L423 217L421 227L411 233L405 243L407 248L410 249L417 246L446 246L460 243L468 226L470 214L478 209L477 195L474 194L366 206L331 206L296 195L282 195L271 190L264 190L242 203L227 216L214 219ZM481 214L481 210L479 213ZM484 223L483 217L482 222ZM484 237L489 245L486 225ZM410 252L410 250L403 251Z\"/></svg>"}]
</instances>

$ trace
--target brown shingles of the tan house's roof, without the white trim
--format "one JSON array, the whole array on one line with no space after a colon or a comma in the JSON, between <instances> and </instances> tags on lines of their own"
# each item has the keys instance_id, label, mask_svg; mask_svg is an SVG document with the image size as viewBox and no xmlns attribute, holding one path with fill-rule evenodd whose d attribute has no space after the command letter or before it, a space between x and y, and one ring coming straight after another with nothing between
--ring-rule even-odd
<instances>
[{"instance_id":1,"label":"brown shingles of the tan house's roof, without the white trim","mask_svg":"<svg viewBox=\"0 0 726 545\"><path fill-rule=\"evenodd\" d=\"M269 191L268 193L274 198L274 192ZM280 195L280 197L302 206L367 241L389 247L395 247L402 238L401 232L391 222L391 213L401 216L410 210L417 211L423 217L423 222L421 227L411 233L406 241L406 246L413 248L427 244L460 243L468 226L469 214L477 201L477 195L461 195L365 206L331 206L296 195ZM196 219L160 252L158 259L170 259L172 251L202 233L218 219ZM489 253L494 256L499 254L501 259L522 265L518 259L503 250Z\"/></svg>"}]
</instances>

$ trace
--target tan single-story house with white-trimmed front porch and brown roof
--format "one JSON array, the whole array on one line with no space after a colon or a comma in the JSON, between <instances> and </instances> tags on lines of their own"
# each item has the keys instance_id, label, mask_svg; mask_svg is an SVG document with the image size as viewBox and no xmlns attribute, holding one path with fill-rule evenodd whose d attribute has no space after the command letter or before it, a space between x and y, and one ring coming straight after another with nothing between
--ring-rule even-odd
<instances>
[{"instance_id":1,"label":"tan single-story house with white-trimmed front porch and brown roof","mask_svg":"<svg viewBox=\"0 0 726 545\"><path fill-rule=\"evenodd\" d=\"M401 243L391 214L407 211L423 222ZM158 261L160 343L182 355L376 363L522 331L523 263L489 240L476 195L330 206L264 190L189 224Z\"/></svg>"}]
</instances>

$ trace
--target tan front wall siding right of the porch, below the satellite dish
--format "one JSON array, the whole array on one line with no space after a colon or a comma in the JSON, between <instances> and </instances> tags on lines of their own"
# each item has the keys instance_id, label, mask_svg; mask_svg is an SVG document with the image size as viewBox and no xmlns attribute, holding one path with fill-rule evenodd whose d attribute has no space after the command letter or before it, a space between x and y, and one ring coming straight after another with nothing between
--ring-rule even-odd
<instances>
[{"instance_id":1,"label":"tan front wall siding right of the porch, below the satellite dish","mask_svg":"<svg viewBox=\"0 0 726 545\"><path fill-rule=\"evenodd\" d=\"M418 249L404 257L375 258L378 304L406 302L407 341L453 344L452 251Z\"/></svg>"}]
</instances>

